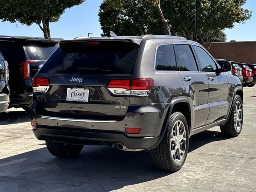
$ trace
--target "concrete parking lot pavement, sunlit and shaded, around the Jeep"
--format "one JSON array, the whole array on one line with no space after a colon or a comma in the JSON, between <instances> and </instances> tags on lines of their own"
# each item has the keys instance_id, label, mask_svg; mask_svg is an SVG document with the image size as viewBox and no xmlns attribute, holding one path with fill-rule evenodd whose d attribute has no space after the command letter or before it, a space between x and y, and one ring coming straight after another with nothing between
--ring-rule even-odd
<instances>
[{"instance_id":1,"label":"concrete parking lot pavement, sunlit and shaded, around the Jeep","mask_svg":"<svg viewBox=\"0 0 256 192\"><path fill-rule=\"evenodd\" d=\"M236 138L214 127L190 138L182 169L156 168L149 152L84 146L76 158L52 156L21 108L0 114L1 192L256 192L256 86L244 88Z\"/></svg>"}]
</instances>

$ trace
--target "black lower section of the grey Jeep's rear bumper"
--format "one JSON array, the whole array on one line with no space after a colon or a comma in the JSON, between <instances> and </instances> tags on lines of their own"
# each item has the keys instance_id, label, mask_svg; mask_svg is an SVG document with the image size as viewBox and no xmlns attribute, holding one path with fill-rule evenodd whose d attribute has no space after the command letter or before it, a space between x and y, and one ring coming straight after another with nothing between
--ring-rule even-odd
<instances>
[{"instance_id":1,"label":"black lower section of the grey Jeep's rear bumper","mask_svg":"<svg viewBox=\"0 0 256 192\"><path fill-rule=\"evenodd\" d=\"M155 137L128 137L122 132L104 132L84 129L57 128L37 126L32 129L38 140L50 140L69 144L88 144L88 142L120 142L129 149L155 148L159 136Z\"/></svg>"}]
</instances>

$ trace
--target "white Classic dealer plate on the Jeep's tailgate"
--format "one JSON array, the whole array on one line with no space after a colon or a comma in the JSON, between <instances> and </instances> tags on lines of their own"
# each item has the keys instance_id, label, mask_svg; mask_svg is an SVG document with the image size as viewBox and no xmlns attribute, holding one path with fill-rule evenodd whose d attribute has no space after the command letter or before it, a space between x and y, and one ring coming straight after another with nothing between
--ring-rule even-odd
<instances>
[{"instance_id":1,"label":"white Classic dealer plate on the Jeep's tailgate","mask_svg":"<svg viewBox=\"0 0 256 192\"><path fill-rule=\"evenodd\" d=\"M88 102L89 90L84 88L68 88L67 101Z\"/></svg>"}]
</instances>

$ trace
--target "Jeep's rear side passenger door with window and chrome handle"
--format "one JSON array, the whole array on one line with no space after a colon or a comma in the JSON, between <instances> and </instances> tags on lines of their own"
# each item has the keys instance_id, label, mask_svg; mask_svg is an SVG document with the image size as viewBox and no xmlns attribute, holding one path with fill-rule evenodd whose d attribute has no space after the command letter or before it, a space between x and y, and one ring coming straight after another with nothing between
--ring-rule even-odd
<instances>
[{"instance_id":1,"label":"Jeep's rear side passenger door with window and chrome handle","mask_svg":"<svg viewBox=\"0 0 256 192\"><path fill-rule=\"evenodd\" d=\"M190 44L175 44L175 53L186 92L192 99L194 128L204 126L209 114L208 81L198 71L196 58Z\"/></svg>"}]
</instances>

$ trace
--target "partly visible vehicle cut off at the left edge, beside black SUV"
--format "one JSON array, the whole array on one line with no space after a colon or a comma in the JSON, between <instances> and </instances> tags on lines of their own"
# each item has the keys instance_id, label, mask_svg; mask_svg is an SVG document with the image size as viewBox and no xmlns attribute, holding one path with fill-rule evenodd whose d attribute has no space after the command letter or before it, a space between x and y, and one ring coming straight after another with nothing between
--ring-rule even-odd
<instances>
[{"instance_id":1,"label":"partly visible vehicle cut off at the left edge, beside black SUV","mask_svg":"<svg viewBox=\"0 0 256 192\"><path fill-rule=\"evenodd\" d=\"M8 62L4 60L0 52L0 113L8 109L10 98L10 88L8 86L9 69Z\"/></svg>"}]
</instances>

